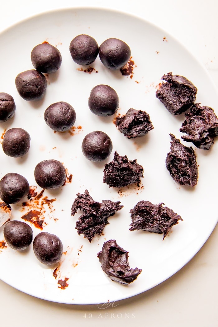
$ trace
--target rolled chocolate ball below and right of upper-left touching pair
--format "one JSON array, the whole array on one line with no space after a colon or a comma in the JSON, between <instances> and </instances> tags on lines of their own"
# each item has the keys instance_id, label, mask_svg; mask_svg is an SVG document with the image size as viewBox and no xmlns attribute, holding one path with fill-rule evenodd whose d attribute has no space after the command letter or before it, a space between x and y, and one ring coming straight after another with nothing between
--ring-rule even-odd
<instances>
[{"instance_id":1,"label":"rolled chocolate ball below and right of upper-left touching pair","mask_svg":"<svg viewBox=\"0 0 218 327\"><path fill-rule=\"evenodd\" d=\"M51 129L64 132L74 125L76 113L69 103L56 102L45 110L44 120Z\"/></svg>"}]
</instances>

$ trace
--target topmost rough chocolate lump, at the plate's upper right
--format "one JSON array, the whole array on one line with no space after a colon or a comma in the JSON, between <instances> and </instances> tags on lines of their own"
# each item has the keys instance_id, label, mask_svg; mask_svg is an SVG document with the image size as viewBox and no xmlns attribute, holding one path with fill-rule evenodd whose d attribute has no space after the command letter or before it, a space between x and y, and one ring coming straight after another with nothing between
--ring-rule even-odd
<instances>
[{"instance_id":1,"label":"topmost rough chocolate lump, at the plate's upper right","mask_svg":"<svg viewBox=\"0 0 218 327\"><path fill-rule=\"evenodd\" d=\"M166 83L161 84L156 91L156 97L169 112L179 115L193 105L197 88L186 77L168 73L161 79L164 79Z\"/></svg>"}]
</instances>

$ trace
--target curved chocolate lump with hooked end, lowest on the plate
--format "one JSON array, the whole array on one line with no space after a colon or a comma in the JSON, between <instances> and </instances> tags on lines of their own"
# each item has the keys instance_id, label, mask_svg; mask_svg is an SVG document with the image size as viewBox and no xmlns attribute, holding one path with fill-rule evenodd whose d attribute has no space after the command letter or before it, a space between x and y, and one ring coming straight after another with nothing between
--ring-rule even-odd
<instances>
[{"instance_id":1,"label":"curved chocolate lump with hooked end, lowest on the plate","mask_svg":"<svg viewBox=\"0 0 218 327\"><path fill-rule=\"evenodd\" d=\"M129 267L128 252L121 248L115 240L105 242L97 257L102 270L114 282L130 284L142 272L142 269Z\"/></svg>"}]
</instances>

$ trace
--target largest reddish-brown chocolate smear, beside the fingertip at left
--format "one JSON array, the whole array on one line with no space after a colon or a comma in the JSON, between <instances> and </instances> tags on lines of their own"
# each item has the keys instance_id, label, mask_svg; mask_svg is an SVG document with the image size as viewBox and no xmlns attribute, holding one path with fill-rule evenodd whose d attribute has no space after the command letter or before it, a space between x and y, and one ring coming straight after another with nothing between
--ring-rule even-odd
<instances>
[{"instance_id":1,"label":"largest reddish-brown chocolate smear, beside the fingertip at left","mask_svg":"<svg viewBox=\"0 0 218 327\"><path fill-rule=\"evenodd\" d=\"M55 209L53 209L52 203L56 201L56 198L48 199L47 196L42 198L43 192L44 189L39 194L37 194L36 187L30 186L30 191L27 195L29 201L22 203L23 208L21 210L24 211L25 208L28 207L30 210L21 218L29 221L36 228L39 228L41 230L43 229L44 225L47 225L47 223L44 222L44 214L46 213L44 205L46 204L48 206L48 209L50 210L50 213L53 213ZM58 218L52 218L55 221L58 220Z\"/></svg>"}]
</instances>

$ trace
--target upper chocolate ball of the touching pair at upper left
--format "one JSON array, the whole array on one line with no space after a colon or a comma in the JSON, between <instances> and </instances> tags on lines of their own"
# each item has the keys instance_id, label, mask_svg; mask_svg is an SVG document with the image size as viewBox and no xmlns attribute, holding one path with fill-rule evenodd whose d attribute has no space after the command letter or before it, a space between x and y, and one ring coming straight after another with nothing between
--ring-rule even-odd
<instances>
[{"instance_id":1,"label":"upper chocolate ball of the touching pair at upper left","mask_svg":"<svg viewBox=\"0 0 218 327\"><path fill-rule=\"evenodd\" d=\"M60 51L49 43L36 45L31 52L33 66L41 73L54 73L61 65Z\"/></svg>"}]
</instances>

